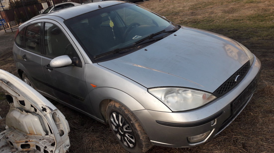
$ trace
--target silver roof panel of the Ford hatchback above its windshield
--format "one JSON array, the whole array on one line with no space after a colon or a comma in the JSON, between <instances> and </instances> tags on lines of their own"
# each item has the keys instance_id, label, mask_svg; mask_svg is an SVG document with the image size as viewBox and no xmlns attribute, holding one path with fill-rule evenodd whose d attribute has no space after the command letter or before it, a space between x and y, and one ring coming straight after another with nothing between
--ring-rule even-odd
<instances>
[{"instance_id":1,"label":"silver roof panel of the Ford hatchback above its windshield","mask_svg":"<svg viewBox=\"0 0 274 153\"><path fill-rule=\"evenodd\" d=\"M88 3L88 4L82 4L82 5L77 5L77 6L73 6L73 7L69 7L66 9L61 9L61 10L57 10L54 12L50 12L47 14L44 14L43 16L39 16L39 17L46 17L46 16L58 16L64 20L66 19L70 19L73 18L75 16L90 12L90 11L94 11L94 10L98 10L104 7L109 7L112 5L116 5L116 4L121 4L121 3L125 3L124 1L99 1L99 2L93 2L93 3Z\"/></svg>"}]
</instances>

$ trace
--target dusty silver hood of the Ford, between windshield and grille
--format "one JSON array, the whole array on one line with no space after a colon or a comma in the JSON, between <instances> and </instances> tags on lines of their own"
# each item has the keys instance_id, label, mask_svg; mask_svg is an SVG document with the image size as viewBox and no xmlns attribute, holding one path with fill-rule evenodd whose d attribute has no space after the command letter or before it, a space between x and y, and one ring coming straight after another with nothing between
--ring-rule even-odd
<instances>
[{"instance_id":1,"label":"dusty silver hood of the Ford, between windshield and grille","mask_svg":"<svg viewBox=\"0 0 274 153\"><path fill-rule=\"evenodd\" d=\"M181 27L147 47L98 64L146 88L178 86L213 93L247 61L232 39Z\"/></svg>"}]
</instances>

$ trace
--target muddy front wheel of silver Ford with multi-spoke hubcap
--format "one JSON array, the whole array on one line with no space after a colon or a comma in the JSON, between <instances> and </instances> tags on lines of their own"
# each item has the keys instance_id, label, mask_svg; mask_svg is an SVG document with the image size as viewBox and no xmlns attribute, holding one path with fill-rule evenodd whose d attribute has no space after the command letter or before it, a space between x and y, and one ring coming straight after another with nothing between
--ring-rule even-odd
<instances>
[{"instance_id":1,"label":"muddy front wheel of silver Ford with multi-spoke hubcap","mask_svg":"<svg viewBox=\"0 0 274 153\"><path fill-rule=\"evenodd\" d=\"M111 101L107 106L106 115L115 138L125 150L144 153L152 147L149 137L136 117L120 103Z\"/></svg>"}]
</instances>

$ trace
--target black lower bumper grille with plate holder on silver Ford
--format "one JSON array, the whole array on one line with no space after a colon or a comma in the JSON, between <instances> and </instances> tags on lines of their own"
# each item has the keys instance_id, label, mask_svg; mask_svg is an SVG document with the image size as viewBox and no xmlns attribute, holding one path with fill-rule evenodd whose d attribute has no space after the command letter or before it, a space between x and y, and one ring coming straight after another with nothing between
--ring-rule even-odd
<instances>
[{"instance_id":1,"label":"black lower bumper grille with plate holder on silver Ford","mask_svg":"<svg viewBox=\"0 0 274 153\"><path fill-rule=\"evenodd\" d=\"M222 131L226 126L239 114L239 112L243 109L247 101L250 99L252 94L257 89L257 78L255 78L248 86L247 88L231 103L231 115L228 119L226 119L221 127L219 128L219 131Z\"/></svg>"}]
</instances>

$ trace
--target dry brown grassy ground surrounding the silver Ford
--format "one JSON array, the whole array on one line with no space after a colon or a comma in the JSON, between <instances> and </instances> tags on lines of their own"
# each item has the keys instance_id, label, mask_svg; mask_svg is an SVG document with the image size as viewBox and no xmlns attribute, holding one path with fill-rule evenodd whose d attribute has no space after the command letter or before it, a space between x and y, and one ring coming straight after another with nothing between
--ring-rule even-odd
<instances>
[{"instance_id":1,"label":"dry brown grassy ground surrounding the silver Ford","mask_svg":"<svg viewBox=\"0 0 274 153\"><path fill-rule=\"evenodd\" d=\"M165 16L175 24L200 28L230 37L262 62L261 79L253 98L215 139L193 148L153 146L148 153L273 153L274 152L274 1L273 0L149 0L137 4ZM0 51L0 68L16 74L12 58L14 34L1 36L10 46ZM1 117L8 111L0 94ZM52 101L70 125L70 153L125 153L110 128ZM3 121L1 121L3 126Z\"/></svg>"}]
</instances>

